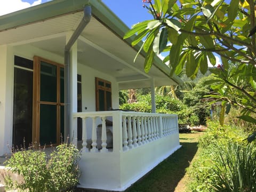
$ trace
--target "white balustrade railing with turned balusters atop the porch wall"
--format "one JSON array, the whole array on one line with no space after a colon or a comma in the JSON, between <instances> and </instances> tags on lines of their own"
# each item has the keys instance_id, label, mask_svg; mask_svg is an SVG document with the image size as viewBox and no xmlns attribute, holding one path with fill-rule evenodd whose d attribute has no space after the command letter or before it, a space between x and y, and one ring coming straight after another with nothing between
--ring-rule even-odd
<instances>
[{"instance_id":1,"label":"white balustrade railing with turned balusters atop the porch wall","mask_svg":"<svg viewBox=\"0 0 256 192\"><path fill-rule=\"evenodd\" d=\"M74 113L73 117L82 118L84 153L131 150L178 132L178 117L173 114L116 110Z\"/></svg>"}]
</instances>

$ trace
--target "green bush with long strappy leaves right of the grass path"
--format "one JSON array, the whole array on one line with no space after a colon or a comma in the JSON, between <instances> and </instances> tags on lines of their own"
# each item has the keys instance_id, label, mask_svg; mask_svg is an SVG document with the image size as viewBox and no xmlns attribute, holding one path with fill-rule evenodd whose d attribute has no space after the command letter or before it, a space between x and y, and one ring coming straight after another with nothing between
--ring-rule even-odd
<instances>
[{"instance_id":1,"label":"green bush with long strappy leaves right of the grass path","mask_svg":"<svg viewBox=\"0 0 256 192\"><path fill-rule=\"evenodd\" d=\"M243 128L207 122L198 156L187 169L189 191L256 191L255 147L245 138Z\"/></svg>"}]
</instances>

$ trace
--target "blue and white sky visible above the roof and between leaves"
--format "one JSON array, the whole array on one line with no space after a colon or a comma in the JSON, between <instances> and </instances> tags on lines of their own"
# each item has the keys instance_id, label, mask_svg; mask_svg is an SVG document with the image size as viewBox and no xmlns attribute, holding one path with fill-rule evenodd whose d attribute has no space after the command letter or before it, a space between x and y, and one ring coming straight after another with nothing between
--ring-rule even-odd
<instances>
[{"instance_id":1,"label":"blue and white sky visible above the roof and between leaves","mask_svg":"<svg viewBox=\"0 0 256 192\"><path fill-rule=\"evenodd\" d=\"M51 0L0 0L0 15L26 9L30 6L49 1ZM153 16L148 13L148 10L143 8L142 0L102 0L102 2L105 3L129 28L135 23L153 19ZM161 55L159 55L159 57L163 58ZM218 57L217 63L220 63Z\"/></svg>"}]
</instances>

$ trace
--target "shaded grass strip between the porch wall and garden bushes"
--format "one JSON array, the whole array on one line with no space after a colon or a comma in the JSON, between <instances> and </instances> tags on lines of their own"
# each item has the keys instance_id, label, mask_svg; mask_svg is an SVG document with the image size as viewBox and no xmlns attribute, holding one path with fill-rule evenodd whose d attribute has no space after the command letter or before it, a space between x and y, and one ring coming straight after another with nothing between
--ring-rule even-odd
<instances>
[{"instance_id":1,"label":"shaded grass strip between the porch wall and garden bushes","mask_svg":"<svg viewBox=\"0 0 256 192\"><path fill-rule=\"evenodd\" d=\"M202 134L202 132L181 133L182 147L125 192L186 191L185 185L189 179L186 168L197 152L198 138Z\"/></svg>"}]
</instances>

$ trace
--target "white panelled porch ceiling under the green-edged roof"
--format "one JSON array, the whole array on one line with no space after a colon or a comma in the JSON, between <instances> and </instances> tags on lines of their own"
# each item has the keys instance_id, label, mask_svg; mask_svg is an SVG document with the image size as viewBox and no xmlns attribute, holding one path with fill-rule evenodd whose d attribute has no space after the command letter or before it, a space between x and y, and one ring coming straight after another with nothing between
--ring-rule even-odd
<instances>
[{"instance_id":1,"label":"white panelled porch ceiling under the green-edged roof","mask_svg":"<svg viewBox=\"0 0 256 192\"><path fill-rule=\"evenodd\" d=\"M0 31L0 45L29 44L64 57L66 35L76 29L82 17L83 12L77 12ZM155 66L146 74L142 55L133 63L136 53L95 17L78 38L78 62L114 76L120 89L150 87L150 77L156 86L177 84Z\"/></svg>"}]
</instances>

